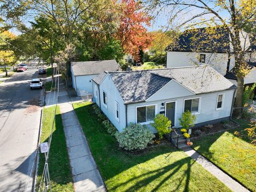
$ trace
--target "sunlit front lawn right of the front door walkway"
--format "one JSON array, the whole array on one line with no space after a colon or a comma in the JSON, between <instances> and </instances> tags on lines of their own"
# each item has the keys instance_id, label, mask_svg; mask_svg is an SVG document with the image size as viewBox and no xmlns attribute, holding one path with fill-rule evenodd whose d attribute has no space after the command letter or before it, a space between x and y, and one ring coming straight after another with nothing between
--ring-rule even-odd
<instances>
[{"instance_id":1,"label":"sunlit front lawn right of the front door walkway","mask_svg":"<svg viewBox=\"0 0 256 192\"><path fill-rule=\"evenodd\" d=\"M256 191L256 147L246 137L238 138L234 132L249 127L239 120L241 127L194 141L194 148L221 167L247 188Z\"/></svg>"}]
</instances>

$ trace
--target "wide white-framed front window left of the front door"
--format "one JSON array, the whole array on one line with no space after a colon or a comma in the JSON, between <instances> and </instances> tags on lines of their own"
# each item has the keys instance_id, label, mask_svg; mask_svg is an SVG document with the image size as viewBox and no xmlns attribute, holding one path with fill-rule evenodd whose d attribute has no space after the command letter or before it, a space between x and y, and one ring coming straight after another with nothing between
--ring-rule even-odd
<instances>
[{"instance_id":1,"label":"wide white-framed front window left of the front door","mask_svg":"<svg viewBox=\"0 0 256 192\"><path fill-rule=\"evenodd\" d=\"M151 106L137 107L136 114L137 114L137 123L152 122L156 115L156 106L151 105Z\"/></svg>"}]
</instances>

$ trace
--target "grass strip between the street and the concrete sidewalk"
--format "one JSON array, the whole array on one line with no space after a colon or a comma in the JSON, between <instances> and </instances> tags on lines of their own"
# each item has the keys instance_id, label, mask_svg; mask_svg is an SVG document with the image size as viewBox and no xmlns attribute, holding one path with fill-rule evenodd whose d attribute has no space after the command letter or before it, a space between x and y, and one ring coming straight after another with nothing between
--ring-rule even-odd
<instances>
[{"instance_id":1,"label":"grass strip between the street and the concrete sidewalk","mask_svg":"<svg viewBox=\"0 0 256 192\"><path fill-rule=\"evenodd\" d=\"M44 108L41 143L48 141L51 134L51 127L53 121L52 114L54 114L54 110L55 106ZM37 190L42 178L44 163L44 154L40 154L38 165ZM59 107L57 108L56 121L52 134L52 143L49 156L49 170L52 191L74 191L65 134L63 131Z\"/></svg>"}]
</instances>

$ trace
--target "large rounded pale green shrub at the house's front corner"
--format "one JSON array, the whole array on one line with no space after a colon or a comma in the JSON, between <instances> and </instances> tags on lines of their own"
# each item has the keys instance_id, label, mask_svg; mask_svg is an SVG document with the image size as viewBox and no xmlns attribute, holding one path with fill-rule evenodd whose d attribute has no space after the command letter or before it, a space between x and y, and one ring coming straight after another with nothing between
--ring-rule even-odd
<instances>
[{"instance_id":1,"label":"large rounded pale green shrub at the house's front corner","mask_svg":"<svg viewBox=\"0 0 256 192\"><path fill-rule=\"evenodd\" d=\"M126 150L141 150L153 143L155 135L145 125L130 123L123 132L117 131L115 137L120 147Z\"/></svg>"}]
</instances>

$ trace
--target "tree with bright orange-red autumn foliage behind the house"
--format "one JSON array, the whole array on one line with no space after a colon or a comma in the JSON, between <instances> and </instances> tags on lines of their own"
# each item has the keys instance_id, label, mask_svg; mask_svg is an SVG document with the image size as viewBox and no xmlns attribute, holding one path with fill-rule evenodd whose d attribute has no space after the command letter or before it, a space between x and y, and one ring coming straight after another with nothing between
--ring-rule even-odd
<instances>
[{"instance_id":1,"label":"tree with bright orange-red autumn foliage behind the house","mask_svg":"<svg viewBox=\"0 0 256 192\"><path fill-rule=\"evenodd\" d=\"M121 18L117 38L125 53L130 53L139 59L139 50L145 51L151 44L151 35L145 26L150 26L151 18L142 10L140 1L122 0L120 6Z\"/></svg>"}]
</instances>

